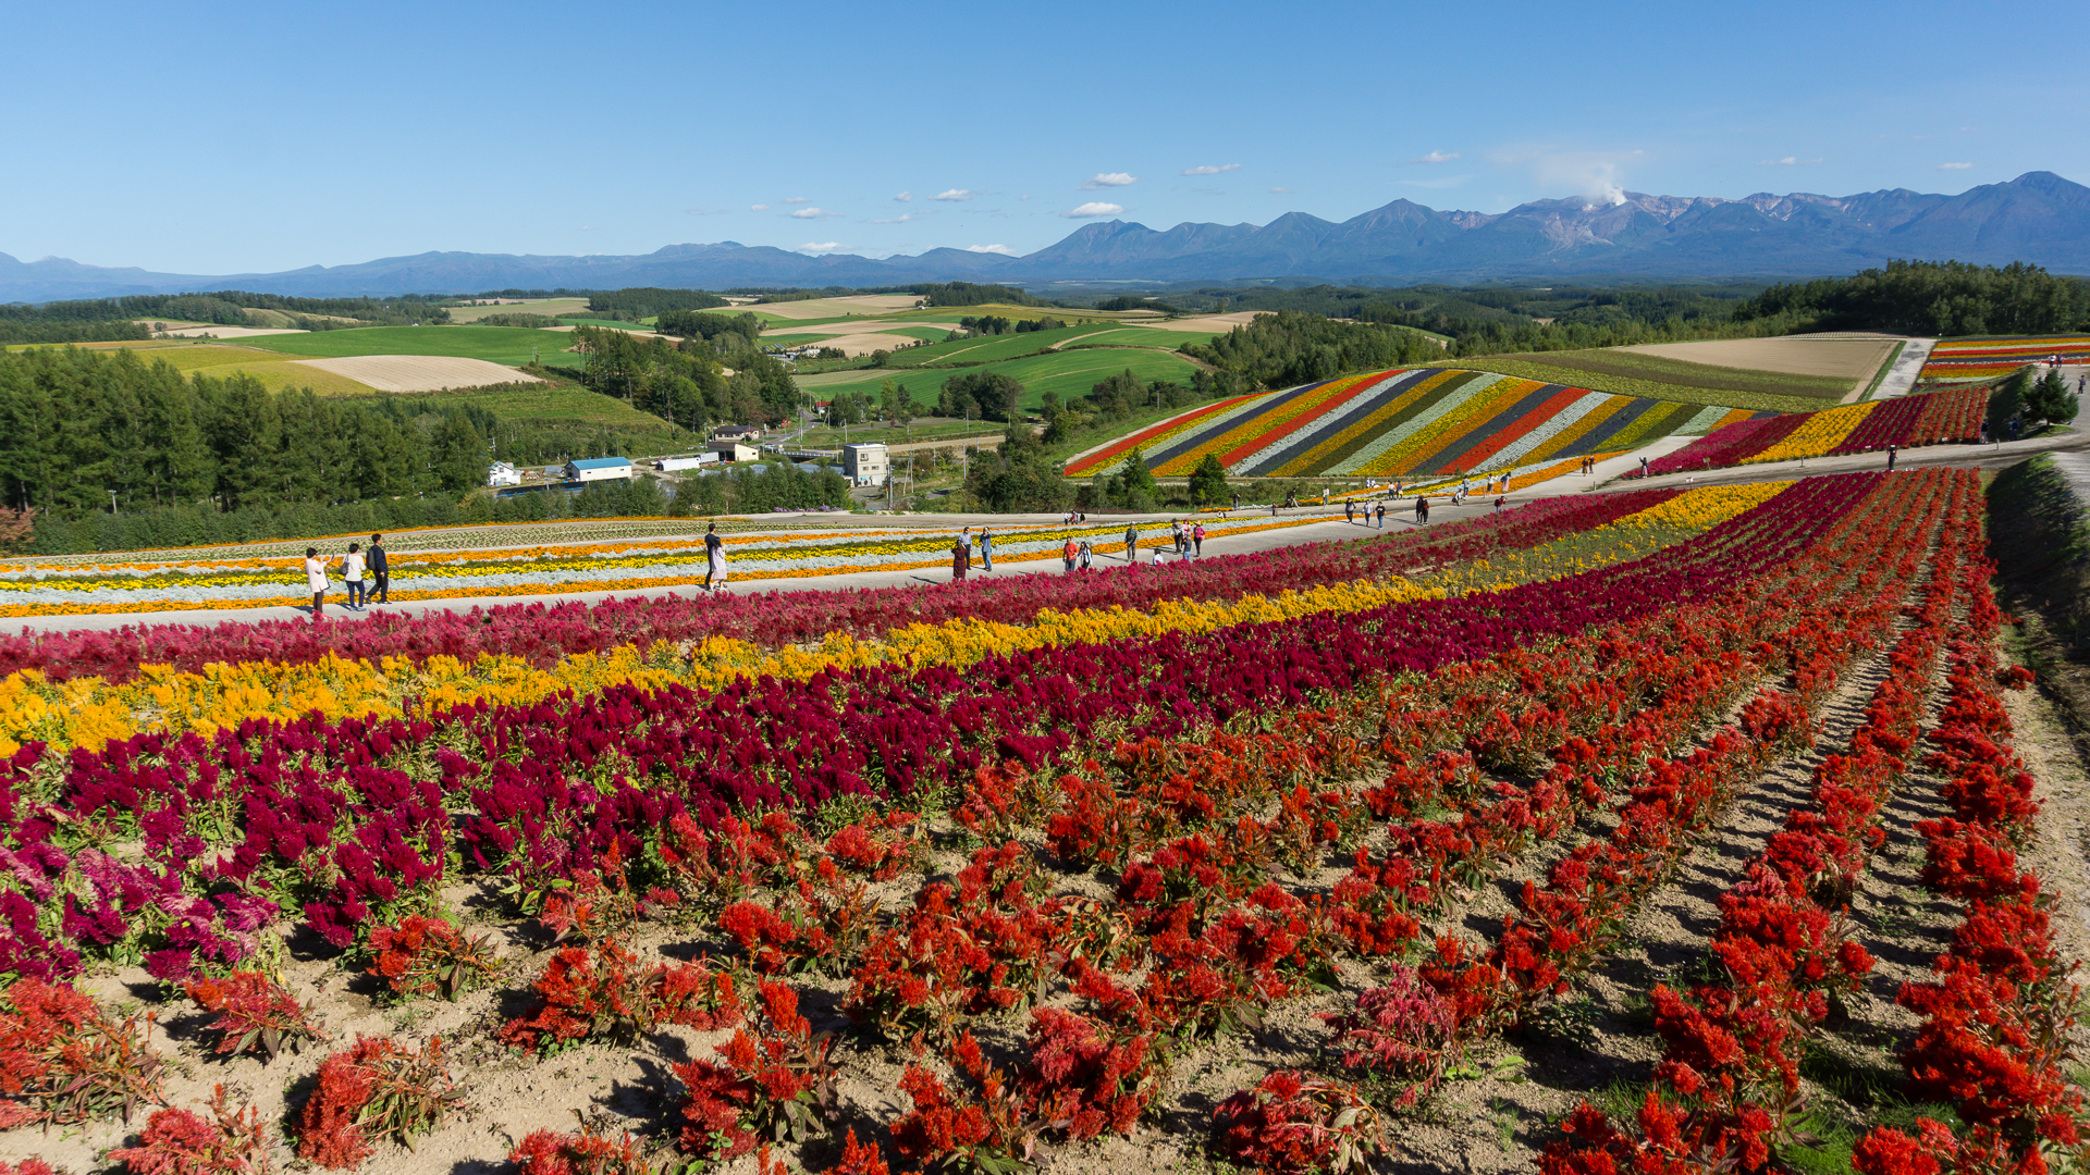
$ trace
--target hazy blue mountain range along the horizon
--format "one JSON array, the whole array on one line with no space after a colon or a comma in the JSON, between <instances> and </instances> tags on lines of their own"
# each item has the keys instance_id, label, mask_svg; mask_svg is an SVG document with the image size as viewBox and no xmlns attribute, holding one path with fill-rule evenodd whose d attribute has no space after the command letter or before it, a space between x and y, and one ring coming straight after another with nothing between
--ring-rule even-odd
<instances>
[{"instance_id":1,"label":"hazy blue mountain range along the horizon","mask_svg":"<svg viewBox=\"0 0 2090 1175\"><path fill-rule=\"evenodd\" d=\"M63 257L0 253L0 301L240 289L280 295L481 293L621 286L886 286L934 280L1198 282L1308 278L1417 280L1639 274L1802 278L1850 274L1889 257L2031 261L2090 274L2090 188L2027 171L1956 197L1894 188L1856 197L1768 192L1739 201L1647 197L1532 201L1507 213L1436 211L1394 201L1342 224L1285 213L1271 224L1122 220L1085 224L1024 257L930 249L915 257L811 257L767 245L669 245L637 257L420 253L282 274L150 274Z\"/></svg>"}]
</instances>

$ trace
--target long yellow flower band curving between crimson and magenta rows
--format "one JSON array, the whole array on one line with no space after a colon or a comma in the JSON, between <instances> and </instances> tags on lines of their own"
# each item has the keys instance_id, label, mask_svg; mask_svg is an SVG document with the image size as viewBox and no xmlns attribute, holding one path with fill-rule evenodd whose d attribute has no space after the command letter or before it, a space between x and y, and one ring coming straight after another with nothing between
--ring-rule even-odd
<instances>
[{"instance_id":1,"label":"long yellow flower band curving between crimson and magenta rows","mask_svg":"<svg viewBox=\"0 0 2090 1175\"><path fill-rule=\"evenodd\" d=\"M621 646L606 654L581 652L550 669L518 656L481 654L472 663L435 656L422 665L387 656L382 663L351 663L322 656L314 665L240 663L205 665L184 673L171 667L146 669L140 679L107 686L98 679L46 682L36 671L19 671L0 682L0 755L17 744L42 740L52 746L98 748L111 738L138 732L211 734L249 719L291 719L305 713L326 717L401 717L433 713L454 705L531 702L562 692L589 694L612 684L660 688L679 682L690 688L721 688L736 677L805 679L832 669L867 665L970 665L995 652L1016 652L1051 644L1112 640L1162 631L1214 631L1221 627L1302 615L1346 615L1386 602L1444 596L1467 590L1499 590L1563 571L1586 571L1641 558L1662 546L1682 542L1772 498L1789 483L1718 487L1685 496L1655 491L1599 508L1576 508L1557 500L1530 510L1507 527L1486 527L1471 539L1457 533L1409 544L1407 575L1350 579L1308 585L1281 596L1244 594L1225 600L1158 598L1147 610L1041 608L1026 623L949 619L884 631L865 642L849 633L828 633L815 648L767 652L746 640L711 636L692 648L642 652ZM1601 500L1599 500L1601 502ZM1634 504L1647 508L1626 512ZM1555 539L1563 519L1580 523L1613 516L1590 531ZM1547 542L1551 539L1551 542ZM1517 544L1536 544L1519 552ZM1166 585L1162 585L1166 590Z\"/></svg>"}]
</instances>

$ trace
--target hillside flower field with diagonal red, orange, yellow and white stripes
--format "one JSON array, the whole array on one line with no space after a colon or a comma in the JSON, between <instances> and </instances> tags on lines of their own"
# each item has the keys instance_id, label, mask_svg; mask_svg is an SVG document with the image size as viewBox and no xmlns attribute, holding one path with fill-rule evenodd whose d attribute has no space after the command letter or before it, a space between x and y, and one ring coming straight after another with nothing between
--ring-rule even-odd
<instances>
[{"instance_id":1,"label":"hillside flower field with diagonal red, orange, yellow and white stripes","mask_svg":"<svg viewBox=\"0 0 2090 1175\"><path fill-rule=\"evenodd\" d=\"M1206 456L1244 477L1524 473L1751 416L1488 372L1390 370L1210 404L1085 454L1066 473L1110 473L1135 447L1160 477L1189 475Z\"/></svg>"}]
</instances>

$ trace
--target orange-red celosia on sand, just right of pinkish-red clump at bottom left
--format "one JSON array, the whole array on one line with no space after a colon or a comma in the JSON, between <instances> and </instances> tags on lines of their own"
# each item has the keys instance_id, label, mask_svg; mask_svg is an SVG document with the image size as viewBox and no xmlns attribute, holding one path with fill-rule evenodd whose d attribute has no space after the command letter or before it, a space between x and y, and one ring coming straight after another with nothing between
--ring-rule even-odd
<instances>
[{"instance_id":1,"label":"orange-red celosia on sand, just right of pinkish-red clump at bottom left","mask_svg":"<svg viewBox=\"0 0 2090 1175\"><path fill-rule=\"evenodd\" d=\"M318 1087L299 1112L297 1156L347 1169L397 1139L439 1127L464 1102L464 1089L443 1064L443 1039L408 1052L389 1037L357 1037L353 1047L320 1062Z\"/></svg>"}]
</instances>

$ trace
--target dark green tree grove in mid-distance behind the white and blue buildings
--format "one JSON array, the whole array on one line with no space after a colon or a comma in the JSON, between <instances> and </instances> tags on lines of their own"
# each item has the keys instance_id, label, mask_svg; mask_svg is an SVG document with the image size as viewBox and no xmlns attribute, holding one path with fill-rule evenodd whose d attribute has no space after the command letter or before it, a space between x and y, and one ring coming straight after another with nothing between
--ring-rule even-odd
<instances>
[{"instance_id":1,"label":"dark green tree grove in mid-distance behind the white and blue buildings","mask_svg":"<svg viewBox=\"0 0 2090 1175\"><path fill-rule=\"evenodd\" d=\"M692 318L738 322L717 314ZM740 330L669 343L614 326L577 326L573 339L587 353L587 366L577 376L581 387L692 433L713 424L777 424L798 414L798 385L790 368Z\"/></svg>"}]
</instances>

